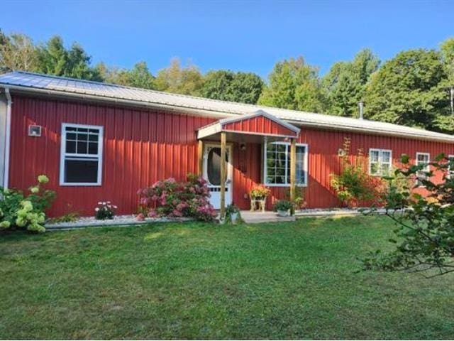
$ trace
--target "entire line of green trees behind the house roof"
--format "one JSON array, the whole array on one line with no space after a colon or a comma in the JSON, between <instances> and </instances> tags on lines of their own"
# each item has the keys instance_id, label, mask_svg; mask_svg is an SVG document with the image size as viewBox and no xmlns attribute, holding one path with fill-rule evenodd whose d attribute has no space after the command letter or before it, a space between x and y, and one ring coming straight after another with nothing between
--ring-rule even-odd
<instances>
[{"instance_id":1,"label":"entire line of green trees behind the house roof","mask_svg":"<svg viewBox=\"0 0 454 341\"><path fill-rule=\"evenodd\" d=\"M177 58L156 75L144 61L131 69L93 65L81 45L67 48L60 36L36 44L24 34L0 30L0 72L11 70L343 117L358 117L358 102L365 102L366 119L454 132L454 38L438 49L404 50L384 62L363 49L323 76L304 58L289 58L277 62L264 82L253 72L202 74Z\"/></svg>"}]
</instances>

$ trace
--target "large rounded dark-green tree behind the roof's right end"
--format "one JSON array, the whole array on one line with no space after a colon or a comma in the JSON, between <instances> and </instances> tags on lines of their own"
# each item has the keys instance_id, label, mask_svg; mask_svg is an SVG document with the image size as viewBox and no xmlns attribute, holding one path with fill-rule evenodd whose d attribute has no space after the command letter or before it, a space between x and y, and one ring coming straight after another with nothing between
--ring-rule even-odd
<instances>
[{"instance_id":1,"label":"large rounded dark-green tree behind the roof's right end","mask_svg":"<svg viewBox=\"0 0 454 341\"><path fill-rule=\"evenodd\" d=\"M429 129L446 107L446 93L440 87L445 78L438 51L401 52L372 75L365 115L377 121Z\"/></svg>"}]
</instances>

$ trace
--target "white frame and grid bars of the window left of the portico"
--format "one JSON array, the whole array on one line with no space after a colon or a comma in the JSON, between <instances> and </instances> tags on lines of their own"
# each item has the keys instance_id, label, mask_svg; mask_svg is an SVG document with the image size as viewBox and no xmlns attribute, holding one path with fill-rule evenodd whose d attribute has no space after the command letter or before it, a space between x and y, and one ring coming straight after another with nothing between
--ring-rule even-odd
<instances>
[{"instance_id":1,"label":"white frame and grid bars of the window left of the portico","mask_svg":"<svg viewBox=\"0 0 454 341\"><path fill-rule=\"evenodd\" d=\"M66 128L85 128L85 129L99 129L98 153L87 154L87 156L98 158L98 178L96 183L65 183L65 157L79 157L84 154L66 153ZM72 124L62 123L62 134L60 137L60 186L100 186L102 183L102 160L103 160L103 144L104 144L104 127L92 126L89 124Z\"/></svg>"}]
</instances>

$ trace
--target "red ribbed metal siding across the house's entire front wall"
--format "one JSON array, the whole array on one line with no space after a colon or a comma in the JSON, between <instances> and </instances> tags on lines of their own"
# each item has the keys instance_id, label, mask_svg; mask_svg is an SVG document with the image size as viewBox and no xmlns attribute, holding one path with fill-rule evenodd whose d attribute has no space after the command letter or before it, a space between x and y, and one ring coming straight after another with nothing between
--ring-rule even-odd
<instances>
[{"instance_id":1,"label":"red ribbed metal siding across the house's entire front wall","mask_svg":"<svg viewBox=\"0 0 454 341\"><path fill-rule=\"evenodd\" d=\"M134 212L139 188L168 177L182 180L187 173L197 171L196 129L213 121L175 112L13 96L10 184L26 190L35 183L37 175L49 175L49 187L57 192L50 215L70 210L92 214L99 200L111 200L118 205L119 213ZM58 185L60 130L64 122L104 126L101 186ZM43 136L27 136L30 124L43 126ZM365 155L369 148L391 149L394 164L402 153L409 154L413 161L416 152L430 153L431 159L441 152L454 154L454 144L303 127L299 143L309 146L309 179L308 186L300 190L304 191L308 207L339 205L331 190L330 174L339 171L338 148L344 137L351 139L352 158L358 148ZM249 208L244 196L261 181L261 164L260 144L246 144L245 151L233 144L233 202L242 209ZM440 179L441 174L436 178ZM268 208L287 191L288 188L272 188Z\"/></svg>"}]
</instances>

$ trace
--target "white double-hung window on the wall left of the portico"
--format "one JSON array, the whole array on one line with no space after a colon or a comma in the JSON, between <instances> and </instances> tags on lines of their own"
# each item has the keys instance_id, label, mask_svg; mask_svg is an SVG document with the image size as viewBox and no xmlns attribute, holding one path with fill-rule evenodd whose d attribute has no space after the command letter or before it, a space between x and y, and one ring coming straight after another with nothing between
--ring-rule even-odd
<instances>
[{"instance_id":1,"label":"white double-hung window on the wall left of the portico","mask_svg":"<svg viewBox=\"0 0 454 341\"><path fill-rule=\"evenodd\" d=\"M60 185L101 185L102 126L62 124Z\"/></svg>"}]
</instances>

